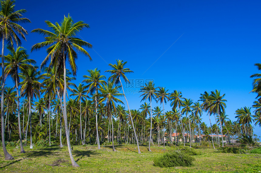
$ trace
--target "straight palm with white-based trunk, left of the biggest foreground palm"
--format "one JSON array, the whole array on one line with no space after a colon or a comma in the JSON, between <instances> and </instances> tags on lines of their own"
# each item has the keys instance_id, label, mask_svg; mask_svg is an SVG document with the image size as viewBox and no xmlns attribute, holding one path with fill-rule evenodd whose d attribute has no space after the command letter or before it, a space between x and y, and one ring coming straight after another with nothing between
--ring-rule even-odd
<instances>
[{"instance_id":1,"label":"straight palm with white-based trunk, left of the biggest foreground palm","mask_svg":"<svg viewBox=\"0 0 261 173\"><path fill-rule=\"evenodd\" d=\"M19 77L23 80L21 84L21 96L26 96L29 100L29 118L30 118L30 148L32 148L32 116L31 116L31 100L32 97L40 96L40 87L42 84L39 82L42 78L39 77L40 71L37 71L37 66L29 66Z\"/></svg>"}]
</instances>

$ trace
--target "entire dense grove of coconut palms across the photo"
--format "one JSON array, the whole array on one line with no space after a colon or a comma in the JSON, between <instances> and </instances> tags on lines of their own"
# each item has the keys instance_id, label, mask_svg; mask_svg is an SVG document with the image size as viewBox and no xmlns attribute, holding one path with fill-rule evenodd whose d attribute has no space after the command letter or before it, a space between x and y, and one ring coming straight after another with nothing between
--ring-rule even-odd
<instances>
[{"instance_id":1,"label":"entire dense grove of coconut palms across the photo","mask_svg":"<svg viewBox=\"0 0 261 173\"><path fill-rule=\"evenodd\" d=\"M32 32L44 36L44 42L36 43L31 51L46 49L47 56L40 67L29 59L27 51L21 47L20 38L28 32L20 25L30 22L22 18L26 10L14 9L15 1L1 1L0 31L2 39L2 97L1 132L2 146L6 159L13 157L5 149L6 145L68 146L73 166L78 166L71 153L71 144L148 144L178 145L185 142L203 142L215 145L233 143L236 139L253 137L253 126L261 125L261 74L254 74L253 90L258 94L254 101L254 114L250 107L235 110L236 121L225 114L225 94L219 90L204 92L198 101L182 97L181 91L169 92L164 87L156 87L152 81L140 90L141 106L131 109L124 94L121 80L128 82L127 62L117 60L109 64L108 76L99 69L87 70L82 83L75 84L78 55L91 60L83 48L92 45L77 38L84 28L83 21L73 22L68 15L60 24L46 21L50 30L34 29ZM17 46L15 46L17 45ZM17 47L16 49L14 47ZM4 53L4 48L8 53ZM69 69L66 69L66 61ZM255 64L261 70L261 64ZM5 86L10 77L14 85ZM107 79L107 80L106 80ZM69 100L66 100L67 99ZM123 103L123 97L127 105ZM23 99L23 100L22 100ZM155 100L157 105L152 105ZM155 102L154 102L155 103ZM165 110L170 104L172 109ZM206 112L209 124L202 122ZM210 117L215 117L211 122ZM185 141L185 142L184 142Z\"/></svg>"}]
</instances>

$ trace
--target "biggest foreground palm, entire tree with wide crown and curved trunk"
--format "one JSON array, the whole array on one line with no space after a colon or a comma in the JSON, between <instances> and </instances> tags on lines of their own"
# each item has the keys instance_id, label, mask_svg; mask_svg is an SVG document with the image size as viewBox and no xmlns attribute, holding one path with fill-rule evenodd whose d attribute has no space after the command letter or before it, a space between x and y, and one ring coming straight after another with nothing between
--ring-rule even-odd
<instances>
[{"instance_id":1,"label":"biggest foreground palm, entire tree with wide crown and curved trunk","mask_svg":"<svg viewBox=\"0 0 261 173\"><path fill-rule=\"evenodd\" d=\"M76 75L77 66L75 60L77 59L77 52L81 53L87 57L91 57L89 53L83 49L83 46L92 48L92 45L85 42L79 38L76 38L77 34L84 28L89 28L89 25L83 21L74 23L71 16L64 16L61 25L59 23L51 23L45 21L47 26L51 28L53 32L46 31L44 29L34 29L32 32L36 32L45 36L45 41L41 43L36 43L32 46L31 51L47 47L48 55L43 60L41 67L45 66L49 59L51 59L49 67L54 66L56 70L63 69L64 78L64 88L63 88L63 117L65 124L65 134L67 139L67 145L69 150L69 156L74 167L79 167L79 165L74 161L71 152L71 145L68 132L67 124L67 112L66 112L66 59L69 61L70 67L72 69L73 75Z\"/></svg>"}]
</instances>

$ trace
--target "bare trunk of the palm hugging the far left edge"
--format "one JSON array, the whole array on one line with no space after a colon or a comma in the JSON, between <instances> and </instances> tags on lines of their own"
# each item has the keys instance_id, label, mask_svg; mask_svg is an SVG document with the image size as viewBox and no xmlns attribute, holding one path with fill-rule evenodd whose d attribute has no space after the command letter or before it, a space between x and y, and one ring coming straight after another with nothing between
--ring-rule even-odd
<instances>
[{"instance_id":1,"label":"bare trunk of the palm hugging the far left edge","mask_svg":"<svg viewBox=\"0 0 261 173\"><path fill-rule=\"evenodd\" d=\"M4 65L4 49L5 49L5 36L2 36L2 95L1 95L1 131L2 131L2 147L5 154L5 159L14 159L11 154L9 154L5 148L5 113L4 113L4 94L5 94L5 65Z\"/></svg>"}]
</instances>

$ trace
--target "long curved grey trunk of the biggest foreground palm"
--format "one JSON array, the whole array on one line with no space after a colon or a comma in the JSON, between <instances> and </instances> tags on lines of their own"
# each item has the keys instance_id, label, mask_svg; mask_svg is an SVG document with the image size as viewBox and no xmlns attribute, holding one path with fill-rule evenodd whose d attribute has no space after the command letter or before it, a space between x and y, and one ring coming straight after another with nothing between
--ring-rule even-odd
<instances>
[{"instance_id":1,"label":"long curved grey trunk of the biggest foreground palm","mask_svg":"<svg viewBox=\"0 0 261 173\"><path fill-rule=\"evenodd\" d=\"M72 162L72 165L74 167L80 167L75 160L73 159L73 154L71 150L71 143L70 143L70 137L69 137L69 131L68 131L68 123L67 123L67 112L66 112L66 64L65 64L65 48L63 48L63 80L64 80L64 90L63 90L63 119L64 119L64 126L65 126L65 134L66 134L66 140L67 140L67 146L69 151L69 156Z\"/></svg>"}]
</instances>

